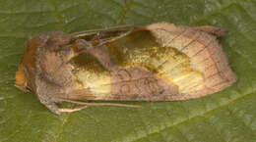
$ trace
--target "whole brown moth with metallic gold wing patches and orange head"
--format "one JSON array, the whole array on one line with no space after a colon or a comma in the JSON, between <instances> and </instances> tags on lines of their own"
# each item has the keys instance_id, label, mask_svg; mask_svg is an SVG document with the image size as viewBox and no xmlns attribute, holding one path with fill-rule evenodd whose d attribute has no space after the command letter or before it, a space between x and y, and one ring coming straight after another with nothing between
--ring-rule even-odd
<instances>
[{"instance_id":1,"label":"whole brown moth with metallic gold wing patches and orange head","mask_svg":"<svg viewBox=\"0 0 256 142\"><path fill-rule=\"evenodd\" d=\"M52 113L76 112L83 100L173 101L203 97L237 80L218 42L225 29L168 23L60 31L33 37L15 85ZM80 104L59 108L56 103Z\"/></svg>"}]
</instances>

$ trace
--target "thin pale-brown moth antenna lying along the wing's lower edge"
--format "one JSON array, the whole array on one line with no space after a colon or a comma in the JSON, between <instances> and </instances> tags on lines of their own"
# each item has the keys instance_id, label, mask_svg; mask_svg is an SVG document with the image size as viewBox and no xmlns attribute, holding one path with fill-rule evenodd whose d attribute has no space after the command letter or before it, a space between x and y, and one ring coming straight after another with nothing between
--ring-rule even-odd
<instances>
[{"instance_id":1,"label":"thin pale-brown moth antenna lying along the wing's lower edge","mask_svg":"<svg viewBox=\"0 0 256 142\"><path fill-rule=\"evenodd\" d=\"M127 104L118 104L118 103L85 103L85 102L66 100L66 99L61 99L61 101L74 103L74 104L78 104L78 105L85 105L87 107L89 107L89 106L116 106L116 107L127 107L127 108L142 108L142 106L138 106L138 105L127 105Z\"/></svg>"}]
</instances>

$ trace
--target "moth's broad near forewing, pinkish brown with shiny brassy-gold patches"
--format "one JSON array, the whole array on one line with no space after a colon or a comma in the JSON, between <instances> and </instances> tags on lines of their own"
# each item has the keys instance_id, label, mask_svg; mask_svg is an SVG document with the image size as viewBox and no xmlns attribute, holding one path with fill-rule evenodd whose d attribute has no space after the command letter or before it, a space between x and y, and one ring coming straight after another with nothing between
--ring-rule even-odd
<instances>
[{"instance_id":1,"label":"moth's broad near forewing, pinkish brown with shiny brassy-gold patches","mask_svg":"<svg viewBox=\"0 0 256 142\"><path fill-rule=\"evenodd\" d=\"M93 100L184 100L236 81L216 36L194 27L151 24L92 50L73 64Z\"/></svg>"}]
</instances>

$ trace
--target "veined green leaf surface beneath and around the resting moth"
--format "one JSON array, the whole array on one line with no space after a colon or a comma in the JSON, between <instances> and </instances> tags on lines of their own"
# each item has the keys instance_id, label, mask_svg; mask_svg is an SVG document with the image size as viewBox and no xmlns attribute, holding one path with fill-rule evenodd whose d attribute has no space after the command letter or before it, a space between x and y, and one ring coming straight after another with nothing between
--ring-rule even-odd
<instances>
[{"instance_id":1,"label":"veined green leaf surface beneath and around the resting moth","mask_svg":"<svg viewBox=\"0 0 256 142\"><path fill-rule=\"evenodd\" d=\"M61 116L14 87L32 35L161 21L228 28L221 43L239 81L195 100ZM254 0L0 0L0 142L255 142L255 37Z\"/></svg>"}]
</instances>

